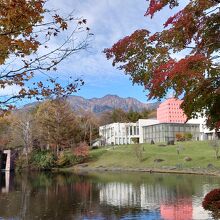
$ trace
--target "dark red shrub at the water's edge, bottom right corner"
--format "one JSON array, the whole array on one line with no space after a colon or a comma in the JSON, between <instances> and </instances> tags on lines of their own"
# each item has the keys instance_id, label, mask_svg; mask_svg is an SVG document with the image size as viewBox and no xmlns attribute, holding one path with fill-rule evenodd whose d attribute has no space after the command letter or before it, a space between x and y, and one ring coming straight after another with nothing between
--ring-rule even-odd
<instances>
[{"instance_id":1,"label":"dark red shrub at the water's edge, bottom right corner","mask_svg":"<svg viewBox=\"0 0 220 220\"><path fill-rule=\"evenodd\" d=\"M209 192L203 202L202 206L206 210L217 211L220 209L220 189L214 189Z\"/></svg>"}]
</instances>

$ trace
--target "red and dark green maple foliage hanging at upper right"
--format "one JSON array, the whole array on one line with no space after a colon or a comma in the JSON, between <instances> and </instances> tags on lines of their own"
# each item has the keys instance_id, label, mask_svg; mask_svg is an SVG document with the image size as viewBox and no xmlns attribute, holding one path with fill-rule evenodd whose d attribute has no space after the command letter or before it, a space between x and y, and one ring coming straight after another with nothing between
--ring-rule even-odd
<instances>
[{"instance_id":1,"label":"red and dark green maple foliage hanging at upper right","mask_svg":"<svg viewBox=\"0 0 220 220\"><path fill-rule=\"evenodd\" d=\"M150 0L145 16L179 0ZM220 1L193 0L164 20L161 32L136 30L105 49L113 66L130 75L133 83L149 90L149 99L164 98L172 89L183 97L188 119L198 112L210 128L220 127ZM182 55L184 54L184 55ZM175 57L180 57L177 59Z\"/></svg>"}]
</instances>

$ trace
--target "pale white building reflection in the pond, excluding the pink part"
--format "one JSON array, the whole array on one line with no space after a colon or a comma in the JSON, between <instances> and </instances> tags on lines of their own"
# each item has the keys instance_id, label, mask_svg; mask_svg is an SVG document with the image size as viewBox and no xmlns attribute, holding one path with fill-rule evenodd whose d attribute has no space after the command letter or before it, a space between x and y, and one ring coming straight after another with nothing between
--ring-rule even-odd
<instances>
[{"instance_id":1,"label":"pale white building reflection in the pond, excluding the pink part","mask_svg":"<svg viewBox=\"0 0 220 220\"><path fill-rule=\"evenodd\" d=\"M100 189L100 203L113 206L133 206L158 209L160 204L175 201L175 193L161 185L109 183Z\"/></svg>"}]
</instances>

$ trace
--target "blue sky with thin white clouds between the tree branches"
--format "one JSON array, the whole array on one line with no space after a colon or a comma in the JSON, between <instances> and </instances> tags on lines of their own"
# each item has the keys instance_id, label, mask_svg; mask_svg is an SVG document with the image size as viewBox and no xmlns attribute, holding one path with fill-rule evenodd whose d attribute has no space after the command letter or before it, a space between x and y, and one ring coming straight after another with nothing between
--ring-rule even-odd
<instances>
[{"instance_id":1,"label":"blue sky with thin white clouds between the tree branches","mask_svg":"<svg viewBox=\"0 0 220 220\"><path fill-rule=\"evenodd\" d=\"M183 7L188 0L180 2ZM74 11L76 17L83 16L94 34L87 51L73 55L59 66L61 81L65 82L70 76L82 77L85 85L76 95L85 98L114 94L147 102L147 91L133 86L128 76L112 67L102 51L137 29L162 30L163 23L175 10L167 8L150 19L144 17L149 4L146 0L50 0L47 4L49 8L58 9L58 14Z\"/></svg>"}]
</instances>

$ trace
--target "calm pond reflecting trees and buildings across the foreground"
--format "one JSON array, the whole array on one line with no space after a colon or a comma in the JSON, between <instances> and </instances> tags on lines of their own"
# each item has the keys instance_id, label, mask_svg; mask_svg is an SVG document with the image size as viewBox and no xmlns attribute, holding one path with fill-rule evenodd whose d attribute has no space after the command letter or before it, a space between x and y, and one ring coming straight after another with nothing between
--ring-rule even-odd
<instances>
[{"instance_id":1,"label":"calm pond reflecting trees and buildings across the foreground","mask_svg":"<svg viewBox=\"0 0 220 220\"><path fill-rule=\"evenodd\" d=\"M207 220L212 176L150 173L0 175L0 219Z\"/></svg>"}]
</instances>

